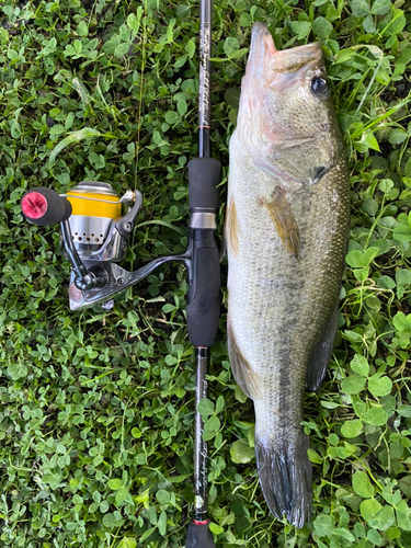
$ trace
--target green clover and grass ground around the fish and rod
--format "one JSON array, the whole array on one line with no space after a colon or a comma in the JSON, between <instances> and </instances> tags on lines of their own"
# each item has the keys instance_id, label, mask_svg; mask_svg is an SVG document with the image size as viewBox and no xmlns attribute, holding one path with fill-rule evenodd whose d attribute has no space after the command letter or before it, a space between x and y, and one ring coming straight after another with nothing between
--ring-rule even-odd
<instances>
[{"instance_id":1,"label":"green clover and grass ground around the fish and rod","mask_svg":"<svg viewBox=\"0 0 411 548\"><path fill-rule=\"evenodd\" d=\"M222 309L201 406L213 532L219 547L409 547L410 4L215 1L221 213L258 20L277 47L323 44L352 173L351 249L330 373L307 396L313 518L301 530L273 520L262 498L252 404L229 369ZM81 180L137 185L144 209L126 266L181 252L197 34L197 3L0 2L2 547L184 545L194 398L184 270L159 269L111 311L70 312L57 227L30 226L20 199Z\"/></svg>"}]
</instances>

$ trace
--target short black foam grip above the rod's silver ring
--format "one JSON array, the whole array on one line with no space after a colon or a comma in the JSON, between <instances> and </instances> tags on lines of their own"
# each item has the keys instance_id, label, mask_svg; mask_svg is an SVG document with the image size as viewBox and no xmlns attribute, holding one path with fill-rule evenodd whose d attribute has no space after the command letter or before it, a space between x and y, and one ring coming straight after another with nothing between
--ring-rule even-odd
<instances>
[{"instance_id":1,"label":"short black foam grip above the rod's silver ring","mask_svg":"<svg viewBox=\"0 0 411 548\"><path fill-rule=\"evenodd\" d=\"M194 158L189 162L190 209L201 207L218 209L218 191L221 164L214 158Z\"/></svg>"}]
</instances>

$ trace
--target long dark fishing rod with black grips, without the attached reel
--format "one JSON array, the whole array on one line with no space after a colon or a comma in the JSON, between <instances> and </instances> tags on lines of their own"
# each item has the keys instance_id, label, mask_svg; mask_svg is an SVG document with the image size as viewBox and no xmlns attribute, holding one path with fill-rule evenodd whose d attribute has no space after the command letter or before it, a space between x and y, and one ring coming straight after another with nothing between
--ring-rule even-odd
<instances>
[{"instance_id":1,"label":"long dark fishing rod with black grips, without the attached reel","mask_svg":"<svg viewBox=\"0 0 411 548\"><path fill-rule=\"evenodd\" d=\"M189 196L198 194L198 238L207 241L207 248L198 256L198 266L204 277L204 302L207 302L209 312L201 319L198 332L190 333L189 306L187 323L189 336L195 346L196 380L195 380L195 433L194 433L194 516L189 525L186 548L214 548L214 539L209 530L208 492L207 492L207 442L203 439L203 418L197 407L202 398L207 397L207 369L209 347L215 341L220 309L220 269L219 253L215 240L216 213L218 210L217 184L220 180L220 163L210 158L210 116L212 116L212 82L210 82L210 50L212 50L212 0L199 0L199 95L198 95L198 158L189 162L189 182L192 186ZM192 167L192 168L191 168ZM192 169L192 171L190 171ZM192 173L192 176L190 176ZM202 196L202 197L201 197ZM191 199L191 198L189 198ZM197 198L195 198L197 199ZM192 206L191 206L192 207ZM201 213L199 213L201 212ZM195 215L192 214L192 219ZM198 315L199 317L201 315ZM204 324L209 333L205 333ZM205 336L206 335L206 336Z\"/></svg>"}]
</instances>

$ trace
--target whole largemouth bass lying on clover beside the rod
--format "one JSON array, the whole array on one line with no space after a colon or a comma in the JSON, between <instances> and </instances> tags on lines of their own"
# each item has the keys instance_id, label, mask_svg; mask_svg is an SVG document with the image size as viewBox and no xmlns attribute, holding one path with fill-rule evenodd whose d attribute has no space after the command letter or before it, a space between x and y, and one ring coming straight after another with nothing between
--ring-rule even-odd
<instances>
[{"instance_id":1,"label":"whole largemouth bass lying on clover beside the rod","mask_svg":"<svg viewBox=\"0 0 411 548\"><path fill-rule=\"evenodd\" d=\"M229 145L227 342L253 400L255 458L272 514L312 512L305 391L331 358L350 231L350 178L321 44L276 50L254 23Z\"/></svg>"}]
</instances>

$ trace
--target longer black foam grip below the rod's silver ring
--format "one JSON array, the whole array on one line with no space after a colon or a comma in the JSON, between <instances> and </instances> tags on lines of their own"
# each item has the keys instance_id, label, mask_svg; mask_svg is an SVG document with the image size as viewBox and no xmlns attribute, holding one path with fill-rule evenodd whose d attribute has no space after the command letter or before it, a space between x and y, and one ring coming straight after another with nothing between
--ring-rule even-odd
<instances>
[{"instance_id":1,"label":"longer black foam grip below the rod's silver ring","mask_svg":"<svg viewBox=\"0 0 411 548\"><path fill-rule=\"evenodd\" d=\"M220 263L214 230L195 230L186 315L190 342L212 346L220 316Z\"/></svg>"}]
</instances>

